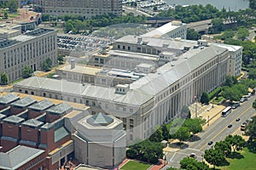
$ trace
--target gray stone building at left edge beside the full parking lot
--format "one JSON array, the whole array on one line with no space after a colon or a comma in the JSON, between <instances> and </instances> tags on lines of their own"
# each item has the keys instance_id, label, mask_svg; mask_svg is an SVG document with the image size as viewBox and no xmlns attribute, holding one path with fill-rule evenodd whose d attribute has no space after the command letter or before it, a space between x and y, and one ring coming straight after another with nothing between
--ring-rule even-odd
<instances>
[{"instance_id":1,"label":"gray stone building at left edge beside the full parking lot","mask_svg":"<svg viewBox=\"0 0 256 170\"><path fill-rule=\"evenodd\" d=\"M8 34L5 33L5 34ZM5 72L9 82L22 77L28 65L33 71L40 70L41 63L49 58L57 63L57 34L54 30L39 28L15 37L0 40L0 72Z\"/></svg>"}]
</instances>

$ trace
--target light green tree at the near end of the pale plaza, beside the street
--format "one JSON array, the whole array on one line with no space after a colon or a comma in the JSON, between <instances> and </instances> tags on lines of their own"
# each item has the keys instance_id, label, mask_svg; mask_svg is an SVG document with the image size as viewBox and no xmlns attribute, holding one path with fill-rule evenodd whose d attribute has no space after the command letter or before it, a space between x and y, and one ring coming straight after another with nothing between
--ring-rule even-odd
<instances>
[{"instance_id":1,"label":"light green tree at the near end of the pale plaza, beside the street","mask_svg":"<svg viewBox=\"0 0 256 170\"><path fill-rule=\"evenodd\" d=\"M200 133L202 131L202 124L204 123L204 120L201 120L201 118L195 118L195 119L186 119L183 123L183 127L188 127L189 132L195 134Z\"/></svg>"}]
</instances>

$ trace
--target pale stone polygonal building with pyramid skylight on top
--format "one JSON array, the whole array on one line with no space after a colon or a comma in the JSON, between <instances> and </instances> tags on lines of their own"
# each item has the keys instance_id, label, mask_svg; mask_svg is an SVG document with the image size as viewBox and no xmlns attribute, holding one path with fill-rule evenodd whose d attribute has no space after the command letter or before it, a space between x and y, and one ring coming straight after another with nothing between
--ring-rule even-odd
<instances>
[{"instance_id":1,"label":"pale stone polygonal building with pyramid skylight on top","mask_svg":"<svg viewBox=\"0 0 256 170\"><path fill-rule=\"evenodd\" d=\"M125 160L123 123L102 113L84 117L73 135L75 157L86 165L113 168Z\"/></svg>"}]
</instances>

